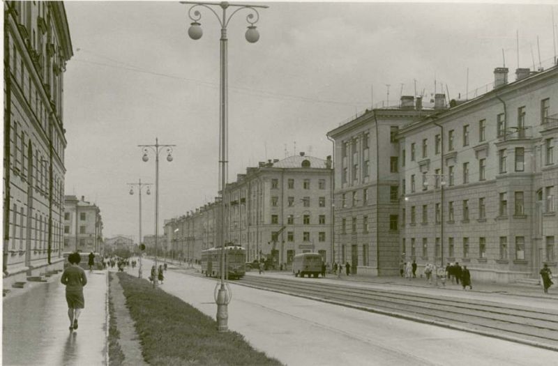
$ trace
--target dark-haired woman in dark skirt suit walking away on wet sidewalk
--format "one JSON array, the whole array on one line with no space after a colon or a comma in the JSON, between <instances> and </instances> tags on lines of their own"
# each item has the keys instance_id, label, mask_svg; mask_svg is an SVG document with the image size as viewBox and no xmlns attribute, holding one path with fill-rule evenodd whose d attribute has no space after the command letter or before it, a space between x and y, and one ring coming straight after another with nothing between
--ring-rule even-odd
<instances>
[{"instance_id":1,"label":"dark-haired woman in dark skirt suit walking away on wet sidewalk","mask_svg":"<svg viewBox=\"0 0 558 366\"><path fill-rule=\"evenodd\" d=\"M83 287L87 284L85 271L78 266L82 257L80 253L72 253L68 256L70 266L66 267L60 278L60 282L66 285L66 303L68 303L68 318L70 318L70 332L77 329L77 319L85 307Z\"/></svg>"}]
</instances>

